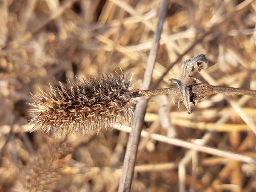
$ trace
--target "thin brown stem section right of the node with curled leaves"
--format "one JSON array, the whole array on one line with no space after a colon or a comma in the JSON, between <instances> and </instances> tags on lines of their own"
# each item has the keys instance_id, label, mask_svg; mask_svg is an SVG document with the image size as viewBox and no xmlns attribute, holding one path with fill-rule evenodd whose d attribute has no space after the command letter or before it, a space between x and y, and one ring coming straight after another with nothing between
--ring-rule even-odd
<instances>
[{"instance_id":1,"label":"thin brown stem section right of the node with curled leaves","mask_svg":"<svg viewBox=\"0 0 256 192\"><path fill-rule=\"evenodd\" d=\"M245 90L245 89L225 87L225 86L213 86L213 94L218 94L218 93L248 95L248 96L256 97L256 90Z\"/></svg>"}]
</instances>

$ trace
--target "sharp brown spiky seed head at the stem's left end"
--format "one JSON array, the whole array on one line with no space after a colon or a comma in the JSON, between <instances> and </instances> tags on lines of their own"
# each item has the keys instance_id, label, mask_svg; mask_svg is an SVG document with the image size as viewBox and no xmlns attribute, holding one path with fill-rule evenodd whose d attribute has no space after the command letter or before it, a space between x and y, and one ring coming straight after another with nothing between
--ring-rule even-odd
<instances>
[{"instance_id":1,"label":"sharp brown spiky seed head at the stem's left end","mask_svg":"<svg viewBox=\"0 0 256 192\"><path fill-rule=\"evenodd\" d=\"M125 81L122 75L102 75L102 79L91 77L89 81L78 80L77 84L67 82L60 89L51 87L50 93L32 95L34 102L28 103L35 108L31 110L34 124L32 129L39 129L55 136L67 133L82 134L89 130L107 129L114 124L122 124L122 121L134 118L134 103L131 83Z\"/></svg>"}]
</instances>

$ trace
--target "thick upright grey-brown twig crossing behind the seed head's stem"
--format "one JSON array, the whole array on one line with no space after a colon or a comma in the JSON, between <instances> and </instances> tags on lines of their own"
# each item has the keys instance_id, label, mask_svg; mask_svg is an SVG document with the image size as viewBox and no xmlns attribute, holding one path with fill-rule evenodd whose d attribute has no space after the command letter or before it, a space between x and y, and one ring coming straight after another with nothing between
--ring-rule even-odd
<instances>
[{"instance_id":1,"label":"thick upright grey-brown twig crossing behind the seed head's stem","mask_svg":"<svg viewBox=\"0 0 256 192\"><path fill-rule=\"evenodd\" d=\"M167 3L168 3L168 0L163 0L161 4L157 30L154 33L153 47L150 50L147 68L144 74L142 89L149 89L149 86L150 86L151 75L153 72L154 63L158 53L159 40L160 40L162 26L164 22L165 13L166 13ZM147 101L148 101L147 98L141 99L138 102L135 110L135 114L134 114L135 118L132 126L133 131L130 133L130 137L129 137L127 148L126 148L126 155L123 163L123 173L120 180L118 192L130 191L130 187L131 187L133 175L134 175L134 166L135 166L135 161L136 161L136 156L138 151L140 133L141 133L142 125L144 122L144 115L146 113Z\"/></svg>"}]
</instances>

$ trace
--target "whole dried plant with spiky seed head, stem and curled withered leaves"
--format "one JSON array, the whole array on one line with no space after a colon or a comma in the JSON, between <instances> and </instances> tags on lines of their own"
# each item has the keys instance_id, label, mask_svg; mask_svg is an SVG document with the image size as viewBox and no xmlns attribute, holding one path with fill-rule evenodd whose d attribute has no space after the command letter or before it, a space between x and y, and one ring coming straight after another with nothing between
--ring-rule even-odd
<instances>
[{"instance_id":1,"label":"whole dried plant with spiky seed head, stem and curled withered leaves","mask_svg":"<svg viewBox=\"0 0 256 192\"><path fill-rule=\"evenodd\" d=\"M103 128L107 129L114 124L122 124L122 121L134 118L134 98L158 94L181 94L181 101L174 102L179 105L183 103L191 114L197 102L209 94L240 94L256 96L255 90L244 90L233 87L212 86L207 82L189 76L193 70L200 71L208 66L205 55L198 55L191 60L182 63L182 75L194 79L194 84L185 86L180 80L169 79L177 83L178 88L165 88L154 90L134 90L132 77L125 81L124 74L114 76L113 74L102 75L102 79L91 77L90 82L78 80L77 84L67 82L67 86L61 89L51 87L51 93L33 95L34 102L29 103L32 109L31 124L34 128L49 134L51 131L55 136L67 133L87 133L89 130ZM190 109L190 102L193 108Z\"/></svg>"}]
</instances>

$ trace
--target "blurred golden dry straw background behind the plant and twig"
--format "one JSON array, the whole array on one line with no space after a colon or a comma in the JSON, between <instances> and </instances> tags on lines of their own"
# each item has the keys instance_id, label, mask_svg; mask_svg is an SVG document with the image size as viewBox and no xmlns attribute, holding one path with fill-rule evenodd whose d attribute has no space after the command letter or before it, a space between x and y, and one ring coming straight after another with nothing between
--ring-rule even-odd
<instances>
[{"instance_id":1,"label":"blurred golden dry straw background behind the plant and twig","mask_svg":"<svg viewBox=\"0 0 256 192\"><path fill-rule=\"evenodd\" d=\"M29 92L48 92L49 83L120 74L119 67L127 79L134 74L138 89L160 4L0 0L0 192L117 191L128 128L65 139L30 133L26 102L32 102ZM205 54L210 67L193 76L256 90L255 27L255 0L169 0L152 85L173 86L168 79L181 79L181 62ZM256 164L235 157L256 157L256 98L211 95L188 115L184 106L180 112L173 104L173 96L179 99L149 100L143 129L165 141L149 134L141 138L131 191L256 191ZM172 137L228 155L208 154L207 148L198 152L192 144L187 147L192 150L170 145Z\"/></svg>"}]
</instances>

